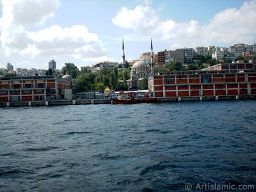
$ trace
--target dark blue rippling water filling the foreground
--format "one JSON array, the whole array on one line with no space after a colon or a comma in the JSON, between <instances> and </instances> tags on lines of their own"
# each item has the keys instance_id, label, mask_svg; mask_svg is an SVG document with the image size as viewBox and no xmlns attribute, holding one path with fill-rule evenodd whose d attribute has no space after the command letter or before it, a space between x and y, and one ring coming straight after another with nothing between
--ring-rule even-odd
<instances>
[{"instance_id":1,"label":"dark blue rippling water filling the foreground","mask_svg":"<svg viewBox=\"0 0 256 192\"><path fill-rule=\"evenodd\" d=\"M0 191L256 184L256 102L0 109Z\"/></svg>"}]
</instances>

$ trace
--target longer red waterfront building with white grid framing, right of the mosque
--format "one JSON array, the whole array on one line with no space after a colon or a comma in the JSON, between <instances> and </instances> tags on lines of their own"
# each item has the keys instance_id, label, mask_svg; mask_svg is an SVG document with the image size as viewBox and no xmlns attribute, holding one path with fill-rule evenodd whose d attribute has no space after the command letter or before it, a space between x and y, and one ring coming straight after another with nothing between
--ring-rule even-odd
<instances>
[{"instance_id":1,"label":"longer red waterfront building with white grid framing, right of the mosque","mask_svg":"<svg viewBox=\"0 0 256 192\"><path fill-rule=\"evenodd\" d=\"M252 63L223 63L212 69L160 72L148 78L148 90L158 98L256 95Z\"/></svg>"}]
</instances>

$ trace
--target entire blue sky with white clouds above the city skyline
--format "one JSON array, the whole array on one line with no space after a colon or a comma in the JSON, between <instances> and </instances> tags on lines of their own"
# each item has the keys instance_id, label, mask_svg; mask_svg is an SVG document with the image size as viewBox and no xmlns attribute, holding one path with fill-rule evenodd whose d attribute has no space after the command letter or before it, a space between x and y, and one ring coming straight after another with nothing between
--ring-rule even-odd
<instances>
[{"instance_id":1,"label":"entire blue sky with white clouds above the city skyline","mask_svg":"<svg viewBox=\"0 0 256 192\"><path fill-rule=\"evenodd\" d=\"M256 0L0 0L0 68L136 60L150 52L256 43Z\"/></svg>"}]
</instances>

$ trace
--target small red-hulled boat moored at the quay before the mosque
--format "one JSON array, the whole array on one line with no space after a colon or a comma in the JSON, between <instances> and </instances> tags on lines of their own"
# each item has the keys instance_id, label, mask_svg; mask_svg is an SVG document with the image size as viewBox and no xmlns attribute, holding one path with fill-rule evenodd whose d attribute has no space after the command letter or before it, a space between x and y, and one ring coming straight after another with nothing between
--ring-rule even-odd
<instances>
[{"instance_id":1,"label":"small red-hulled boat moored at the quay before the mosque","mask_svg":"<svg viewBox=\"0 0 256 192\"><path fill-rule=\"evenodd\" d=\"M147 93L136 94L134 92L120 92L116 99L113 99L113 104L138 104L138 103L154 103L156 98L149 97Z\"/></svg>"}]
</instances>

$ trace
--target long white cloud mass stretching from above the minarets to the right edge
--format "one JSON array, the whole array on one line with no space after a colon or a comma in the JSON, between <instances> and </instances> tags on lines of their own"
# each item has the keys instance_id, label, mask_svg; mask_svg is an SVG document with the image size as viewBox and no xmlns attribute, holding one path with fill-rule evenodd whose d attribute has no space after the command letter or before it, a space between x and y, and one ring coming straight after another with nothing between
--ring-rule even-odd
<instances>
[{"instance_id":1,"label":"long white cloud mass stretching from above the minarets to the right edge","mask_svg":"<svg viewBox=\"0 0 256 192\"><path fill-rule=\"evenodd\" d=\"M234 44L256 41L256 1L246 1L241 8L230 8L217 13L209 24L200 25L196 20L175 22L159 20L158 13L150 2L136 6L133 10L121 8L112 19L120 28L131 29L136 34L152 36L157 41L167 42L173 48L196 47L216 43Z\"/></svg>"}]
</instances>

